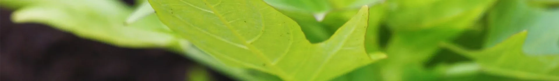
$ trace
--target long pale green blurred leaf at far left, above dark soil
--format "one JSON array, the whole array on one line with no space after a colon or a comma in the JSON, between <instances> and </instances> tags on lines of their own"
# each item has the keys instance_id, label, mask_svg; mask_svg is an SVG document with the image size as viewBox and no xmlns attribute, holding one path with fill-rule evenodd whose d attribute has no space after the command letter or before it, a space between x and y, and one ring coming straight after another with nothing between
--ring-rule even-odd
<instances>
[{"instance_id":1,"label":"long pale green blurred leaf at far left, above dark soil","mask_svg":"<svg viewBox=\"0 0 559 81\"><path fill-rule=\"evenodd\" d=\"M177 43L177 36L155 15L125 26L123 23L130 13L125 4L112 0L37 0L14 12L12 20L48 24L79 37L121 47L168 47Z\"/></svg>"}]
</instances>

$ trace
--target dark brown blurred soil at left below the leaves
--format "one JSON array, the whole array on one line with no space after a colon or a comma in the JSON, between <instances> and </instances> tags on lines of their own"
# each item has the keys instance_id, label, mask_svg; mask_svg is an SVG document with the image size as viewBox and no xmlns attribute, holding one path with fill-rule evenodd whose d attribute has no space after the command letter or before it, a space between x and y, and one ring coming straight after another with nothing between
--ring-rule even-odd
<instances>
[{"instance_id":1,"label":"dark brown blurred soil at left below the leaves","mask_svg":"<svg viewBox=\"0 0 559 81\"><path fill-rule=\"evenodd\" d=\"M119 48L49 26L14 24L11 13L0 9L0 81L182 81L188 68L200 66L163 49ZM212 80L230 80L209 72Z\"/></svg>"}]
</instances>

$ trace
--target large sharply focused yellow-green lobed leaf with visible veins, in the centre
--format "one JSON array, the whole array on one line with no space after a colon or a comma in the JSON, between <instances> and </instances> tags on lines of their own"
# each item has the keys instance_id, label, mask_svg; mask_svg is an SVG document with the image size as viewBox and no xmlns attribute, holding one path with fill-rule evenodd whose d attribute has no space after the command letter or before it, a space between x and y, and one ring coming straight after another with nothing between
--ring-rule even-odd
<instances>
[{"instance_id":1,"label":"large sharply focused yellow-green lobed leaf with visible veins, in the centre","mask_svg":"<svg viewBox=\"0 0 559 81\"><path fill-rule=\"evenodd\" d=\"M260 0L151 0L160 20L225 64L283 80L328 80L374 60L364 49L368 8L328 41L311 44L300 27Z\"/></svg>"}]
</instances>

